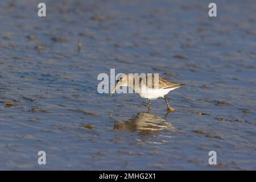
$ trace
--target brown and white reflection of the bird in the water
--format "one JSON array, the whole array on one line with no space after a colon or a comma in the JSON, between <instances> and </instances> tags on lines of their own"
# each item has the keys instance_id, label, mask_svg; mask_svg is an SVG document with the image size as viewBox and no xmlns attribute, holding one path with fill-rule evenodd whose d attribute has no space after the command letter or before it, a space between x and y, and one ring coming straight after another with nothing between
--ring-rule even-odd
<instances>
[{"instance_id":1,"label":"brown and white reflection of the bird in the water","mask_svg":"<svg viewBox=\"0 0 256 182\"><path fill-rule=\"evenodd\" d=\"M150 113L138 113L127 121L118 121L114 125L115 130L139 131L142 135L150 135L155 131L174 130L175 128L164 118Z\"/></svg>"}]
</instances>

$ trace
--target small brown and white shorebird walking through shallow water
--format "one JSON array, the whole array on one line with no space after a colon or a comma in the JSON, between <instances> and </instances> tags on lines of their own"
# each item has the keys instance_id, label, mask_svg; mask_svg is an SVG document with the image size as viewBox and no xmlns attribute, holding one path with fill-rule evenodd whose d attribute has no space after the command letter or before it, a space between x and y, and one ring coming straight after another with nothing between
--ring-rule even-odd
<instances>
[{"instance_id":1,"label":"small brown and white shorebird walking through shallow water","mask_svg":"<svg viewBox=\"0 0 256 182\"><path fill-rule=\"evenodd\" d=\"M138 80L139 84L135 84ZM146 81L145 81L146 80ZM138 93L142 98L147 98L149 101L147 106L150 105L151 100L157 98L164 98L167 104L167 109L170 111L176 111L170 106L167 98L165 97L171 90L184 86L176 82L171 82L160 76L154 76L152 74L145 74L145 80L140 75L136 74L123 74L119 76L117 85L110 93L110 96L121 86L127 86L131 88L135 93ZM149 84L150 83L150 84Z\"/></svg>"}]
</instances>

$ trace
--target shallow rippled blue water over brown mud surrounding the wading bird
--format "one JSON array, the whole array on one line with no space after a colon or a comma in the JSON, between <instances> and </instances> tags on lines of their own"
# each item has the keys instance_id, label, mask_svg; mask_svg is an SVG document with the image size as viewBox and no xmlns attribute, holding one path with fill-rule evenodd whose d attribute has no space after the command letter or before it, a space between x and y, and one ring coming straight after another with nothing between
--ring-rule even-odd
<instances>
[{"instance_id":1,"label":"shallow rippled blue water over brown mud surrounding the wading bird","mask_svg":"<svg viewBox=\"0 0 256 182\"><path fill-rule=\"evenodd\" d=\"M45 2L47 18L0 2L0 169L256 169L254 1L216 1L217 18L204 1ZM110 68L186 84L178 111L97 93Z\"/></svg>"}]
</instances>

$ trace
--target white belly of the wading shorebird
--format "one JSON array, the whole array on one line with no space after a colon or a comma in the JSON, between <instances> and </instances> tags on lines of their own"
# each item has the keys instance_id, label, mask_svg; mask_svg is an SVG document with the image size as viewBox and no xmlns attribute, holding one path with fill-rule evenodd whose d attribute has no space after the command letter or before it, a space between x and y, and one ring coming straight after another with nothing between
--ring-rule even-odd
<instances>
[{"instance_id":1,"label":"white belly of the wading shorebird","mask_svg":"<svg viewBox=\"0 0 256 182\"><path fill-rule=\"evenodd\" d=\"M149 100L155 100L159 97L164 97L166 94L168 94L171 90L174 90L176 88L179 88L180 86L177 86L175 88L170 89L142 89L139 92L139 96L142 98L147 98Z\"/></svg>"}]
</instances>

